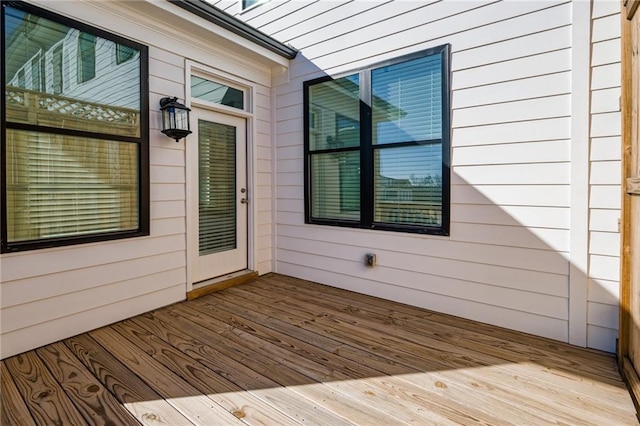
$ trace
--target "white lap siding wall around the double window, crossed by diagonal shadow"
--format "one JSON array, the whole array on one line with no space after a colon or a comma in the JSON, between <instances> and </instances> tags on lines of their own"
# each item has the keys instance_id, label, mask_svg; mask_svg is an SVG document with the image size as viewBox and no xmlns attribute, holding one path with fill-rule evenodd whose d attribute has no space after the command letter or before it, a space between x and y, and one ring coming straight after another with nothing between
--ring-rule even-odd
<instances>
[{"instance_id":1,"label":"white lap siding wall around the double window, crossed by diagonal shadow","mask_svg":"<svg viewBox=\"0 0 640 426\"><path fill-rule=\"evenodd\" d=\"M611 129L600 134L595 126L607 120L615 133L615 111L592 109L590 222L586 195L576 197L587 185L589 141L575 129L588 135L589 117L587 111L576 124L572 105L586 105L590 93L589 63L573 49L572 31L579 20L588 57L590 6L585 12L571 1L271 1L241 12L239 2L218 4L300 50L288 80L276 87L278 272L614 350L619 166L602 144L619 142ZM594 29L596 37L615 44ZM445 43L453 52L451 236L306 225L302 83ZM596 72L615 80L604 68L619 65L595 62L596 56L593 84ZM572 165L582 153L584 161ZM377 254L376 267L364 266L367 252ZM584 260L572 267L574 258ZM570 294L577 295L573 301Z\"/></svg>"}]
</instances>

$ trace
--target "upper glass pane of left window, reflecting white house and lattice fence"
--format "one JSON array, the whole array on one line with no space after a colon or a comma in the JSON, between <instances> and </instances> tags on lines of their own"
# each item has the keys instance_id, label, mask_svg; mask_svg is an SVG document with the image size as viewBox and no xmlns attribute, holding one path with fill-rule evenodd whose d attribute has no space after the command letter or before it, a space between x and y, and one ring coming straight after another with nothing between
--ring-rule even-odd
<instances>
[{"instance_id":1,"label":"upper glass pane of left window, reflecting white house and lattice fence","mask_svg":"<svg viewBox=\"0 0 640 426\"><path fill-rule=\"evenodd\" d=\"M47 119L47 126L140 134L141 81L137 49L129 47L130 54L137 55L137 60L118 64L114 41L13 7L5 7L4 11L8 106L18 107L20 99L30 96L33 99L28 105L39 105L47 115L57 114L60 118ZM43 66L34 71L38 69L35 64L42 58ZM27 95L13 90L27 88L23 83L25 72L31 75L34 83L30 83L29 88L35 93ZM46 84L36 85L36 79ZM42 114L11 117L15 122L33 125L42 124L37 120L44 120Z\"/></svg>"}]
</instances>

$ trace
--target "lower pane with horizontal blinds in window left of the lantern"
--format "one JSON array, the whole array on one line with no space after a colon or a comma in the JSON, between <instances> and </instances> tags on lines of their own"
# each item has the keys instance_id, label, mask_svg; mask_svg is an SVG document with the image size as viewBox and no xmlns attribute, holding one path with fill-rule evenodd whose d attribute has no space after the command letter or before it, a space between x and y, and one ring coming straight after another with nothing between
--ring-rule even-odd
<instances>
[{"instance_id":1,"label":"lower pane with horizontal blinds in window left of the lantern","mask_svg":"<svg viewBox=\"0 0 640 426\"><path fill-rule=\"evenodd\" d=\"M138 228L138 145L7 130L9 242Z\"/></svg>"}]
</instances>

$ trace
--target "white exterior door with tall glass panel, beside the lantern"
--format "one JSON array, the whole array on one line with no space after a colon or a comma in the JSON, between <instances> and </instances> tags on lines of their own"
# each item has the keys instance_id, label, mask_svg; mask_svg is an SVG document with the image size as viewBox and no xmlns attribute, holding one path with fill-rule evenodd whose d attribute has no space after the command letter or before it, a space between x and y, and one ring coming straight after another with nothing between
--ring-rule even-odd
<instances>
[{"instance_id":1,"label":"white exterior door with tall glass panel, beside the lantern","mask_svg":"<svg viewBox=\"0 0 640 426\"><path fill-rule=\"evenodd\" d=\"M187 244L193 284L247 269L246 120L196 109L189 158Z\"/></svg>"}]
</instances>

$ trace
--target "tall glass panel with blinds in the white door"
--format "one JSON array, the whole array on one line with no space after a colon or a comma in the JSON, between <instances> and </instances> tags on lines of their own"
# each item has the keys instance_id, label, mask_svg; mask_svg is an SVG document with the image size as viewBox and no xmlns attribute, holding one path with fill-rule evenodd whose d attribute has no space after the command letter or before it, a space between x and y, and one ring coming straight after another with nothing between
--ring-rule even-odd
<instances>
[{"instance_id":1,"label":"tall glass panel with blinds in the white door","mask_svg":"<svg viewBox=\"0 0 640 426\"><path fill-rule=\"evenodd\" d=\"M237 247L236 128L198 120L199 253Z\"/></svg>"}]
</instances>

